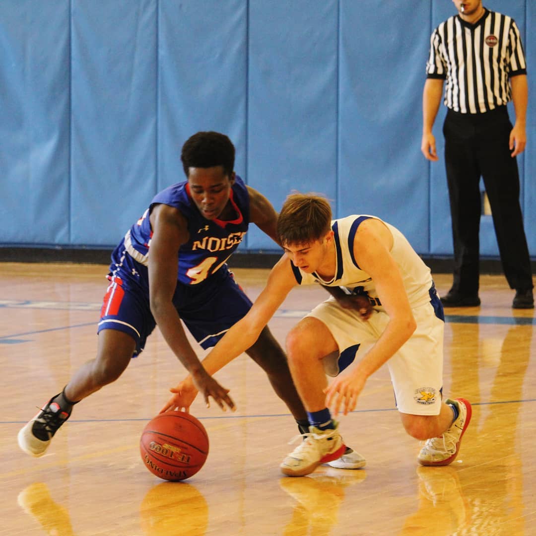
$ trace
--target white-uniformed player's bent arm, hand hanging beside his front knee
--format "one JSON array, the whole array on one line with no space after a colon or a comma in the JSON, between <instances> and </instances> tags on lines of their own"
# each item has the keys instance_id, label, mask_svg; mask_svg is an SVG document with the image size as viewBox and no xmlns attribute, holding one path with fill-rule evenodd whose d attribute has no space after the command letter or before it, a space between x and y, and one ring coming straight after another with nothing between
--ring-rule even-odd
<instances>
[{"instance_id":1,"label":"white-uniformed player's bent arm, hand hanging beside his front knee","mask_svg":"<svg viewBox=\"0 0 536 536\"><path fill-rule=\"evenodd\" d=\"M374 280L378 297L389 315L385 330L363 359L338 376L326 389L326 405L337 415L353 411L367 378L388 361L411 337L416 323L402 276L390 254L392 234L379 220L362 222L354 239L354 256Z\"/></svg>"}]
</instances>

